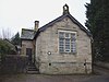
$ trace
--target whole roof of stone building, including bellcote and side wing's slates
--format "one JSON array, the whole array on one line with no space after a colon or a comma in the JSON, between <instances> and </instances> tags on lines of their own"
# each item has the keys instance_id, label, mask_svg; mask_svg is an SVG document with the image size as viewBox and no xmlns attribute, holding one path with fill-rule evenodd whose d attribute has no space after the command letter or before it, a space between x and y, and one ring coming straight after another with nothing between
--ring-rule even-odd
<instances>
[{"instance_id":1,"label":"whole roof of stone building, including bellcote and side wing's slates","mask_svg":"<svg viewBox=\"0 0 109 82\"><path fill-rule=\"evenodd\" d=\"M86 30L77 20L75 20L69 12L69 7L68 4L63 5L63 14L59 17L57 17L56 20L49 22L48 24L44 25L43 27L38 28L37 32L35 32L34 30L22 30L22 39L34 39L36 38L40 32L46 31L48 27L50 27L51 25L53 25L57 22L62 21L64 17L70 17L71 21L73 23L75 23L76 25L78 25L78 27L84 31L89 37L92 37L92 34L88 30Z\"/></svg>"}]
</instances>

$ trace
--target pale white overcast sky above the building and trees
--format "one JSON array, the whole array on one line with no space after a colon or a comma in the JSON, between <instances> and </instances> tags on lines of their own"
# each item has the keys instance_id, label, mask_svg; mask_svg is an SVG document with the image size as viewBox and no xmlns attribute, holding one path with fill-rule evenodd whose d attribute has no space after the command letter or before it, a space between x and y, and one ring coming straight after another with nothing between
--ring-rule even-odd
<instances>
[{"instance_id":1,"label":"pale white overcast sky above the building and trees","mask_svg":"<svg viewBox=\"0 0 109 82\"><path fill-rule=\"evenodd\" d=\"M39 27L62 15L63 5L69 5L70 13L85 26L86 8L89 0L0 0L0 37L8 33L10 37L22 28Z\"/></svg>"}]
</instances>

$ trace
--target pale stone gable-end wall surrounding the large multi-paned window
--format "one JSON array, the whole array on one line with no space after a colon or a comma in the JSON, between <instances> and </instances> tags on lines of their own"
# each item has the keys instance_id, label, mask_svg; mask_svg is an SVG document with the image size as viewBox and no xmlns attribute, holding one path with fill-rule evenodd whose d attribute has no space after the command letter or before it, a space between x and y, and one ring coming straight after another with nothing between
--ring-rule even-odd
<instances>
[{"instance_id":1,"label":"pale stone gable-end wall surrounding the large multi-paned window","mask_svg":"<svg viewBox=\"0 0 109 82\"><path fill-rule=\"evenodd\" d=\"M76 32L76 50L73 54L59 52L58 31ZM48 55L48 52L51 55ZM41 32L36 40L36 61L40 73L70 74L92 72L92 45L88 35L69 17L55 23Z\"/></svg>"}]
</instances>

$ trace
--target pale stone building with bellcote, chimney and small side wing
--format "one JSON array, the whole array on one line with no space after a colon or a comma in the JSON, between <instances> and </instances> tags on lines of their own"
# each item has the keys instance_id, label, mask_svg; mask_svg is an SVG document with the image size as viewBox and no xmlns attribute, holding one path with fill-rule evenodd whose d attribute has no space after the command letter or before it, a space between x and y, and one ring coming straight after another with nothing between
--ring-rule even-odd
<instances>
[{"instance_id":1,"label":"pale stone building with bellcote, chimney and small side wing","mask_svg":"<svg viewBox=\"0 0 109 82\"><path fill-rule=\"evenodd\" d=\"M46 74L92 73L92 34L63 5L58 19L22 30L22 54Z\"/></svg>"}]
</instances>

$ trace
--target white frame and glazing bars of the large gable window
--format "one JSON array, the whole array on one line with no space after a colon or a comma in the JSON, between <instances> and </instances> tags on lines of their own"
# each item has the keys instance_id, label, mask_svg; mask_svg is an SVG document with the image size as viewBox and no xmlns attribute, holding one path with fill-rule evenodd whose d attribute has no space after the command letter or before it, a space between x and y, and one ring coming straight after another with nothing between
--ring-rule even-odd
<instances>
[{"instance_id":1,"label":"white frame and glazing bars of the large gable window","mask_svg":"<svg viewBox=\"0 0 109 82\"><path fill-rule=\"evenodd\" d=\"M64 35L64 37L63 37L63 42L64 42L64 44L63 44L63 51L60 51L60 39L61 39L60 33L61 33L61 32L62 32L63 35ZM69 34L69 37L65 36L66 33ZM75 45L75 47L74 47L74 48L75 48L75 52L72 51L72 47L71 47L71 46L72 46L72 43L71 43L71 40L72 40L71 35L72 35L72 34L75 35L75 39L74 39L74 42L75 42L75 44L74 44L74 45ZM74 32L74 31L60 31L60 30L59 30L59 31L58 31L58 38L59 38L59 42L58 42L58 43L59 43L59 44L58 44L58 48L59 48L59 49L58 49L58 50L59 50L60 54L76 54L76 32ZM68 51L66 51L66 49L65 49L65 47L66 47L66 46L65 46L65 45L66 45L66 44L65 44L65 40L66 40L66 39L70 39L70 44L69 44L69 45L70 45L70 49L68 49Z\"/></svg>"}]
</instances>

